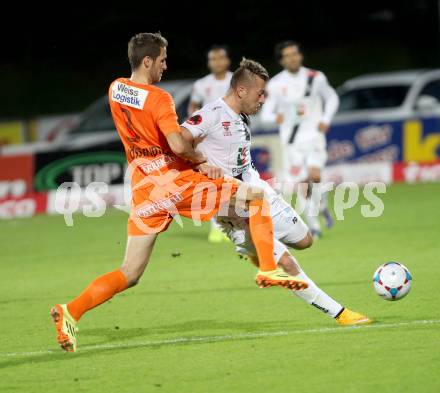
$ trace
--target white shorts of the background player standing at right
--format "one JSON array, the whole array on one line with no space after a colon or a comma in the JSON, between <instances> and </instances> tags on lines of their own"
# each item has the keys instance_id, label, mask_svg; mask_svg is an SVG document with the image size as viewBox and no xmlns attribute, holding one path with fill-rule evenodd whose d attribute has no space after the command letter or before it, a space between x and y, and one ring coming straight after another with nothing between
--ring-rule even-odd
<instances>
[{"instance_id":1,"label":"white shorts of the background player standing at right","mask_svg":"<svg viewBox=\"0 0 440 393\"><path fill-rule=\"evenodd\" d=\"M323 169L327 162L325 139L283 146L283 177L285 181L300 182L308 177L308 168Z\"/></svg>"}]
</instances>

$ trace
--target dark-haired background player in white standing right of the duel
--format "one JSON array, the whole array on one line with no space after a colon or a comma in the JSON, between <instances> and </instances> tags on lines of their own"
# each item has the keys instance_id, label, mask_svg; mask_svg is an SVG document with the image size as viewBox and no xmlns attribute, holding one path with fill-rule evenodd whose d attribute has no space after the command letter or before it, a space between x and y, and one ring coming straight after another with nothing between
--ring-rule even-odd
<instances>
[{"instance_id":1,"label":"dark-haired background player in white standing right of the duel","mask_svg":"<svg viewBox=\"0 0 440 393\"><path fill-rule=\"evenodd\" d=\"M283 181L306 182L297 193L300 211L314 238L322 235L318 212L326 226L333 225L326 196L312 198L312 186L321 181L327 161L326 137L339 98L320 71L304 67L300 45L285 41L275 46L275 56L284 68L268 83L268 99L262 111L264 122L279 126L283 155Z\"/></svg>"}]
</instances>

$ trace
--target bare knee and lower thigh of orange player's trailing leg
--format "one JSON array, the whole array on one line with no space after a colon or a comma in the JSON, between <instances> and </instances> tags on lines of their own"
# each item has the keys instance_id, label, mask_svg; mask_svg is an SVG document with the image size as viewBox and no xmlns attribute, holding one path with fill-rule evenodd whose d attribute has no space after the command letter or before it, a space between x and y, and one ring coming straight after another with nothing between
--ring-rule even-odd
<instances>
[{"instance_id":1,"label":"bare knee and lower thigh of orange player's trailing leg","mask_svg":"<svg viewBox=\"0 0 440 393\"><path fill-rule=\"evenodd\" d=\"M135 285L142 276L150 260L157 233L143 236L128 236L124 262L121 270L130 286Z\"/></svg>"}]
</instances>

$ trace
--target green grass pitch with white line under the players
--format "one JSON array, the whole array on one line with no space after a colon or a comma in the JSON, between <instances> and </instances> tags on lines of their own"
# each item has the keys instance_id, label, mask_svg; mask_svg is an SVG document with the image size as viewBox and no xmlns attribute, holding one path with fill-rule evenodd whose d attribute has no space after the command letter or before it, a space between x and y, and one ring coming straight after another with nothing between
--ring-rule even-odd
<instances>
[{"instance_id":1,"label":"green grass pitch with white line under the players","mask_svg":"<svg viewBox=\"0 0 440 393\"><path fill-rule=\"evenodd\" d=\"M120 264L127 216L0 222L0 392L439 392L440 184L393 185L383 199L380 218L358 204L295 253L371 327L258 289L231 245L186 221L159 237L137 287L83 317L75 354L58 348L49 309ZM398 302L372 286L389 260L414 277Z\"/></svg>"}]
</instances>

